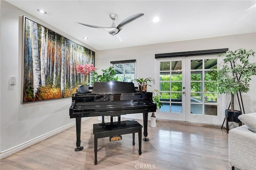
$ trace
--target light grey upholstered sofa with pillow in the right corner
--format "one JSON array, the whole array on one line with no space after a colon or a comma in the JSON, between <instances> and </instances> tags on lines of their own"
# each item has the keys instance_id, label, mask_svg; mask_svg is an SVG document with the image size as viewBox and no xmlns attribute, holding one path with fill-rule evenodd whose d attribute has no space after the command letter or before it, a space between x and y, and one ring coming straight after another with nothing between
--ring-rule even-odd
<instances>
[{"instance_id":1,"label":"light grey upholstered sofa with pillow in the right corner","mask_svg":"<svg viewBox=\"0 0 256 170\"><path fill-rule=\"evenodd\" d=\"M228 133L229 163L232 170L234 167L240 170L256 170L256 113L241 116L238 119L245 125L233 128Z\"/></svg>"}]
</instances>

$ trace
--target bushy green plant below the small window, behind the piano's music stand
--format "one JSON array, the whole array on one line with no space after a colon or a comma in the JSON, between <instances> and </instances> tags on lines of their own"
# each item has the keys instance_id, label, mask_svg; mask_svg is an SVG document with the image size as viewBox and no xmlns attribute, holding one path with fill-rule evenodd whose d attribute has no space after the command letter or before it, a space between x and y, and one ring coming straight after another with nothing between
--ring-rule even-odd
<instances>
[{"instance_id":1,"label":"bushy green plant below the small window, behind the piano's music stand","mask_svg":"<svg viewBox=\"0 0 256 170\"><path fill-rule=\"evenodd\" d=\"M114 67L109 67L108 69L101 69L102 75L98 75L96 71L92 72L92 84L94 82L106 82L106 81L117 81L118 77L115 76L116 72Z\"/></svg>"}]
</instances>

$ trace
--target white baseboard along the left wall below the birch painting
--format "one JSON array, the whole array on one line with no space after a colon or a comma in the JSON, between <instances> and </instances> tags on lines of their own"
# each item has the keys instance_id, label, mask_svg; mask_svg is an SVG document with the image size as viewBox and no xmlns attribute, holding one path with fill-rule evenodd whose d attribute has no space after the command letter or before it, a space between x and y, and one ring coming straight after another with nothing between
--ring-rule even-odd
<instances>
[{"instance_id":1,"label":"white baseboard along the left wall below the birch painting","mask_svg":"<svg viewBox=\"0 0 256 170\"><path fill-rule=\"evenodd\" d=\"M85 121L85 120L87 120L87 119L90 119L90 117L82 118L82 121ZM44 140L44 139L46 139L46 138L49 138L50 136L53 136L54 134L57 134L57 133L59 133L59 132L62 132L63 130L66 130L66 129L68 129L68 128L74 126L74 125L76 125L76 122L75 122L75 121L72 122L72 123L70 123L70 124L68 124L68 125L65 125L65 126L63 126L63 127L60 127L60 128L58 128L58 129L56 129L56 130L52 130L51 132L48 132L48 133L43 134L43 135L41 135L41 136L38 136L38 137L36 137L36 138L34 138L34 139L32 139L32 140L29 140L29 141L27 141L27 142L24 142L24 143L22 143L22 144L19 144L19 145L17 145L17 146L14 146L14 147L12 147L12 148L10 148L10 149L4 150L4 151L0 152L0 159L5 158L6 156L9 156L9 155L11 155L11 154L14 154L14 153L16 153L16 152L18 152L18 151L20 151L20 150L22 150L22 149L24 149L24 148L27 148L27 147L29 147L29 146L32 146L33 144L36 144L36 143L38 143L38 142L40 142L40 141L42 141L42 140Z\"/></svg>"}]
</instances>

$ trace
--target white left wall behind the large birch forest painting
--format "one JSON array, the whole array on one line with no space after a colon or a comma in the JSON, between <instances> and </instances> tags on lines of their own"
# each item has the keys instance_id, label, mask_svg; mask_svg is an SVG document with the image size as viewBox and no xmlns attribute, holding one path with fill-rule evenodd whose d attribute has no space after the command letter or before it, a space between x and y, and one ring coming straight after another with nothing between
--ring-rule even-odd
<instances>
[{"instance_id":1,"label":"white left wall behind the large birch forest painting","mask_svg":"<svg viewBox=\"0 0 256 170\"><path fill-rule=\"evenodd\" d=\"M21 104L22 18L20 16L25 15L85 47L88 47L88 45L74 40L64 32L38 20L6 1L0 3L0 151L3 154L13 147L65 127L75 121L75 119L69 117L71 97ZM88 48L97 52L92 47ZM10 76L16 77L16 85L9 85ZM74 136L75 140L76 136Z\"/></svg>"}]
</instances>

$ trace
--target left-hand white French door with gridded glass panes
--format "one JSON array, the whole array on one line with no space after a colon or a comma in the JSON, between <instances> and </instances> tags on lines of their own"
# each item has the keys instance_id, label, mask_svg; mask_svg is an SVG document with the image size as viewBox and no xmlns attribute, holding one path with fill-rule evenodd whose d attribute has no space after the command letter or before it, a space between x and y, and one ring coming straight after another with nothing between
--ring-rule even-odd
<instances>
[{"instance_id":1,"label":"left-hand white French door with gridded glass panes","mask_svg":"<svg viewBox=\"0 0 256 170\"><path fill-rule=\"evenodd\" d=\"M184 65L185 57L159 61L159 91L163 104L159 115L164 119L185 121Z\"/></svg>"}]
</instances>

